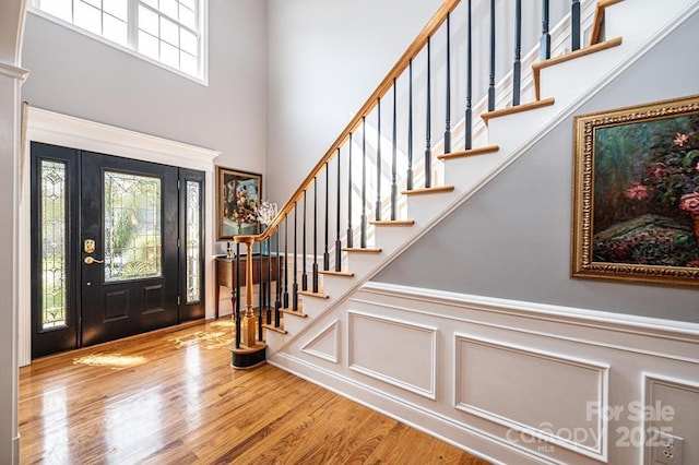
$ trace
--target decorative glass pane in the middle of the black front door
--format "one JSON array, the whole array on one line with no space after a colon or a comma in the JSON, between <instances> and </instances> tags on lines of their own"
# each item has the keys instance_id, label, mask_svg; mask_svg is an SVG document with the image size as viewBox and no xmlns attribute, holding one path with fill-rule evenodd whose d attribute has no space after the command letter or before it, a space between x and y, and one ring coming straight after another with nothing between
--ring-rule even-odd
<instances>
[{"instance_id":1,"label":"decorative glass pane in the middle of the black front door","mask_svg":"<svg viewBox=\"0 0 699 465\"><path fill-rule=\"evenodd\" d=\"M161 180L105 171L105 281L161 276Z\"/></svg>"}]
</instances>

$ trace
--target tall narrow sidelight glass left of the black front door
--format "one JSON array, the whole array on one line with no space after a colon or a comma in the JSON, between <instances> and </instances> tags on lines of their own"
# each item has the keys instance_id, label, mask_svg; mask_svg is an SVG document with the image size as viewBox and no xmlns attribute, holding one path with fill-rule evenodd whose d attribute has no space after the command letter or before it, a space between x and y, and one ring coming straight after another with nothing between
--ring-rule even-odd
<instances>
[{"instance_id":1,"label":"tall narrow sidelight glass left of the black front door","mask_svg":"<svg viewBox=\"0 0 699 465\"><path fill-rule=\"evenodd\" d=\"M42 330L66 327L66 164L42 160Z\"/></svg>"}]
</instances>

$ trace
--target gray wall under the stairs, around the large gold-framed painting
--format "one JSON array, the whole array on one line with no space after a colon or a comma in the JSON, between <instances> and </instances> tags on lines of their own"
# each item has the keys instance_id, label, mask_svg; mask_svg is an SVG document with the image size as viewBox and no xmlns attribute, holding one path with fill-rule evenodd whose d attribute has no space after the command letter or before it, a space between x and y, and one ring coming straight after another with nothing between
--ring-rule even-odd
<instances>
[{"instance_id":1,"label":"gray wall under the stairs, around the large gold-framed painting","mask_svg":"<svg viewBox=\"0 0 699 465\"><path fill-rule=\"evenodd\" d=\"M576 114L698 94L697 31L699 14ZM569 277L572 140L568 118L375 281L699 322L697 290Z\"/></svg>"}]
</instances>

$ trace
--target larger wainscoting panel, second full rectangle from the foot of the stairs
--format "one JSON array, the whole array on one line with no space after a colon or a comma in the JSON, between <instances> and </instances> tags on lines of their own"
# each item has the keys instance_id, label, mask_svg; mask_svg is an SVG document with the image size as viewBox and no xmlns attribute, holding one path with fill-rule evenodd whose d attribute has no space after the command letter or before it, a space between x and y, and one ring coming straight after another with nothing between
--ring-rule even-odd
<instances>
[{"instance_id":1,"label":"larger wainscoting panel, second full rectangle from the foot of the stairs","mask_svg":"<svg viewBox=\"0 0 699 465\"><path fill-rule=\"evenodd\" d=\"M458 409L592 456L605 455L604 363L455 335Z\"/></svg>"}]
</instances>

